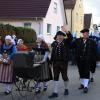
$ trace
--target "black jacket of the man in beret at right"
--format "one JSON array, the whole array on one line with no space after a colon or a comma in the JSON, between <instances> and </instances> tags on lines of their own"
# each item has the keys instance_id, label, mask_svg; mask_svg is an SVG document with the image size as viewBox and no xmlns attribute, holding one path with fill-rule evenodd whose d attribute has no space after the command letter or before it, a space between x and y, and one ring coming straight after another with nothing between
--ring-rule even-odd
<instances>
[{"instance_id":1,"label":"black jacket of the man in beret at right","mask_svg":"<svg viewBox=\"0 0 100 100\"><path fill-rule=\"evenodd\" d=\"M75 47L76 60L96 60L97 59L97 44L94 40L88 38L85 42L83 38L76 39L72 43Z\"/></svg>"}]
</instances>

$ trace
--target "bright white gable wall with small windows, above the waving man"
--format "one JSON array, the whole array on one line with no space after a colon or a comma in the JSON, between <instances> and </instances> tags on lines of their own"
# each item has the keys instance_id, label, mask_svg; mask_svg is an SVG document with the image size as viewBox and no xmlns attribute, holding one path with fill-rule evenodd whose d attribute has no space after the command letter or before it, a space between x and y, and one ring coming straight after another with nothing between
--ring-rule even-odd
<instances>
[{"instance_id":1,"label":"bright white gable wall with small windows, above the waving man","mask_svg":"<svg viewBox=\"0 0 100 100\"><path fill-rule=\"evenodd\" d=\"M46 39L51 41L62 25L66 25L63 0L52 0L43 20L43 33Z\"/></svg>"}]
</instances>

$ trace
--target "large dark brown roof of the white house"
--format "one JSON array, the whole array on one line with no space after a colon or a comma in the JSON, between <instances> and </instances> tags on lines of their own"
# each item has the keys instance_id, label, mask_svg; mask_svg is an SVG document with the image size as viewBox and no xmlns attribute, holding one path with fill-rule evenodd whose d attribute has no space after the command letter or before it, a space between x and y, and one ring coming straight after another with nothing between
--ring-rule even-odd
<instances>
[{"instance_id":1,"label":"large dark brown roof of the white house","mask_svg":"<svg viewBox=\"0 0 100 100\"><path fill-rule=\"evenodd\" d=\"M51 0L0 0L0 18L45 17Z\"/></svg>"}]
</instances>

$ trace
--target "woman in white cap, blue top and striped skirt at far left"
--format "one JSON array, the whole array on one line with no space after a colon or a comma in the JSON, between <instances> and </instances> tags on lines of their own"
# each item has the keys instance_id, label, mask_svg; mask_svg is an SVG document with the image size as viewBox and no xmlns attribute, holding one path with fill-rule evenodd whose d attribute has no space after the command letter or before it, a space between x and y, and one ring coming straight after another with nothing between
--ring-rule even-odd
<instances>
[{"instance_id":1,"label":"woman in white cap, blue top and striped skirt at far left","mask_svg":"<svg viewBox=\"0 0 100 100\"><path fill-rule=\"evenodd\" d=\"M12 90L13 68L12 56L16 53L16 46L10 35L5 37L5 43L2 45L0 58L0 82L5 84L5 94L8 95Z\"/></svg>"}]
</instances>

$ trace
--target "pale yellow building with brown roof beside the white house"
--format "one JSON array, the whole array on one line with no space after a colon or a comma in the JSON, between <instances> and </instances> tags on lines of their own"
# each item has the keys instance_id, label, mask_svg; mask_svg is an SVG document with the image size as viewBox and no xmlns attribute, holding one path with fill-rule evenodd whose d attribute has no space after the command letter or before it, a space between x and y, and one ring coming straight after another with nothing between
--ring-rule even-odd
<instances>
[{"instance_id":1,"label":"pale yellow building with brown roof beside the white house","mask_svg":"<svg viewBox=\"0 0 100 100\"><path fill-rule=\"evenodd\" d=\"M77 33L80 37L80 30L84 28L83 0L64 0L65 13L67 17L67 28Z\"/></svg>"}]
</instances>

